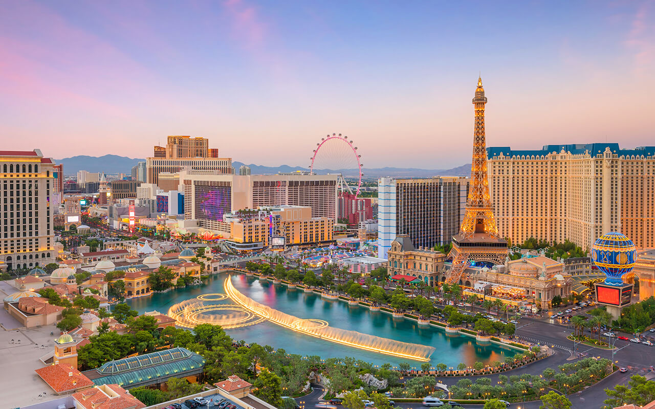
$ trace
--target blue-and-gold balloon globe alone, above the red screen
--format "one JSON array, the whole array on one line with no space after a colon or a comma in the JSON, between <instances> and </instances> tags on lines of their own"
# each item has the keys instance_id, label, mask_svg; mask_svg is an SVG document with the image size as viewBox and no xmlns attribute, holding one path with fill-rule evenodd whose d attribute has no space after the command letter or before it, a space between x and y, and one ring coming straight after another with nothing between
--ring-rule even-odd
<instances>
[{"instance_id":1,"label":"blue-and-gold balloon globe alone, above the red screen","mask_svg":"<svg viewBox=\"0 0 655 409\"><path fill-rule=\"evenodd\" d=\"M610 232L591 247L591 260L605 273L605 284L622 285L622 276L635 266L635 243L623 233Z\"/></svg>"}]
</instances>

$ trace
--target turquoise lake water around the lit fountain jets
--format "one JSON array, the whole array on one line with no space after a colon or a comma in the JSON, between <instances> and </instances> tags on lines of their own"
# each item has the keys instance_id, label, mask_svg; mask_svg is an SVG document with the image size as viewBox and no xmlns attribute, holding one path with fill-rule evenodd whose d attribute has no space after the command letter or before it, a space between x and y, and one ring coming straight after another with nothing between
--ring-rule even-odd
<instances>
[{"instance_id":1,"label":"turquoise lake water around the lit fountain jets","mask_svg":"<svg viewBox=\"0 0 655 409\"><path fill-rule=\"evenodd\" d=\"M201 294L225 293L223 289L225 277L227 277L227 274L219 274L208 279L207 284L202 287L187 287L169 293L153 294L146 298L128 300L128 304L140 312L157 310L166 313L170 306L183 300L195 298ZM246 277L243 274L233 274L231 280L234 287L245 296L296 317L324 319L331 327L355 330L364 334L402 342L433 346L436 350L431 356L432 365L444 363L447 366L455 367L460 362L466 363L466 365L473 365L476 361L491 363L492 361L503 361L506 355L512 356L517 352L514 349L496 344L477 344L475 338L470 336L447 336L445 331L440 328L419 327L416 321L394 319L388 313L369 311L368 308L360 306L348 306L348 303L343 301L325 300L313 293L288 289L284 285L259 281L259 279ZM212 303L233 304L229 299L213 301ZM227 332L236 340L257 342L257 344L270 345L276 349L284 348L289 353L299 355L319 355L324 359L350 356L377 365L387 362L397 365L402 361L407 361L402 358L320 340L270 322L232 329ZM418 361L408 362L417 367L421 365Z\"/></svg>"}]
</instances>

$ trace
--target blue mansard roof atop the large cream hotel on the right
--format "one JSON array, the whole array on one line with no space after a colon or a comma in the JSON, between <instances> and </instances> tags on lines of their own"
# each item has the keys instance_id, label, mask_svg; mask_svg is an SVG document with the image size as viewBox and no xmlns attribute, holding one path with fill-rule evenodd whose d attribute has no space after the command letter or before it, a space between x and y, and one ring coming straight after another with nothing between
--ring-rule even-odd
<instances>
[{"instance_id":1,"label":"blue mansard roof atop the large cream hotel on the right","mask_svg":"<svg viewBox=\"0 0 655 409\"><path fill-rule=\"evenodd\" d=\"M488 147L487 158L491 159L494 156L499 156L501 153L505 156L542 156L552 152L559 153L562 150L571 152L571 154L584 154L589 153L591 156L602 154L605 148L609 147L612 153L618 156L653 156L655 155L655 147L637 147L635 149L620 149L618 143L570 143L568 145L544 145L542 149L519 151L513 150L510 147Z\"/></svg>"}]
</instances>

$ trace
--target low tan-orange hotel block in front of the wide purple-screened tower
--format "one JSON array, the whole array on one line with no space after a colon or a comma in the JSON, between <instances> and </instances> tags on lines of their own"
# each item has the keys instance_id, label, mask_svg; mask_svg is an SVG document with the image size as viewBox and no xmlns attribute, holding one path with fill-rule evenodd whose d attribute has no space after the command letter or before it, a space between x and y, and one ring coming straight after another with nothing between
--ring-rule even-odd
<instances>
[{"instance_id":1,"label":"low tan-orange hotel block in front of the wide purple-screened tower","mask_svg":"<svg viewBox=\"0 0 655 409\"><path fill-rule=\"evenodd\" d=\"M312 217L309 206L262 206L223 215L229 223L229 244L235 249L261 249L271 238L284 238L282 245L301 247L333 241L334 221Z\"/></svg>"}]
</instances>

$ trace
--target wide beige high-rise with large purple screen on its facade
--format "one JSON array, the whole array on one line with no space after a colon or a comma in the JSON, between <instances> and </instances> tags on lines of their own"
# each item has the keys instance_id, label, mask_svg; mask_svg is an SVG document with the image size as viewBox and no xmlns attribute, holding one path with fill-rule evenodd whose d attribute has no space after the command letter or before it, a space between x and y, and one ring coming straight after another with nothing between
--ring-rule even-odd
<instances>
[{"instance_id":1,"label":"wide beige high-rise with large purple screen on its facade","mask_svg":"<svg viewBox=\"0 0 655 409\"><path fill-rule=\"evenodd\" d=\"M312 217L337 220L337 175L223 175L183 171L185 219L229 232L223 214L261 206L312 208Z\"/></svg>"}]
</instances>

